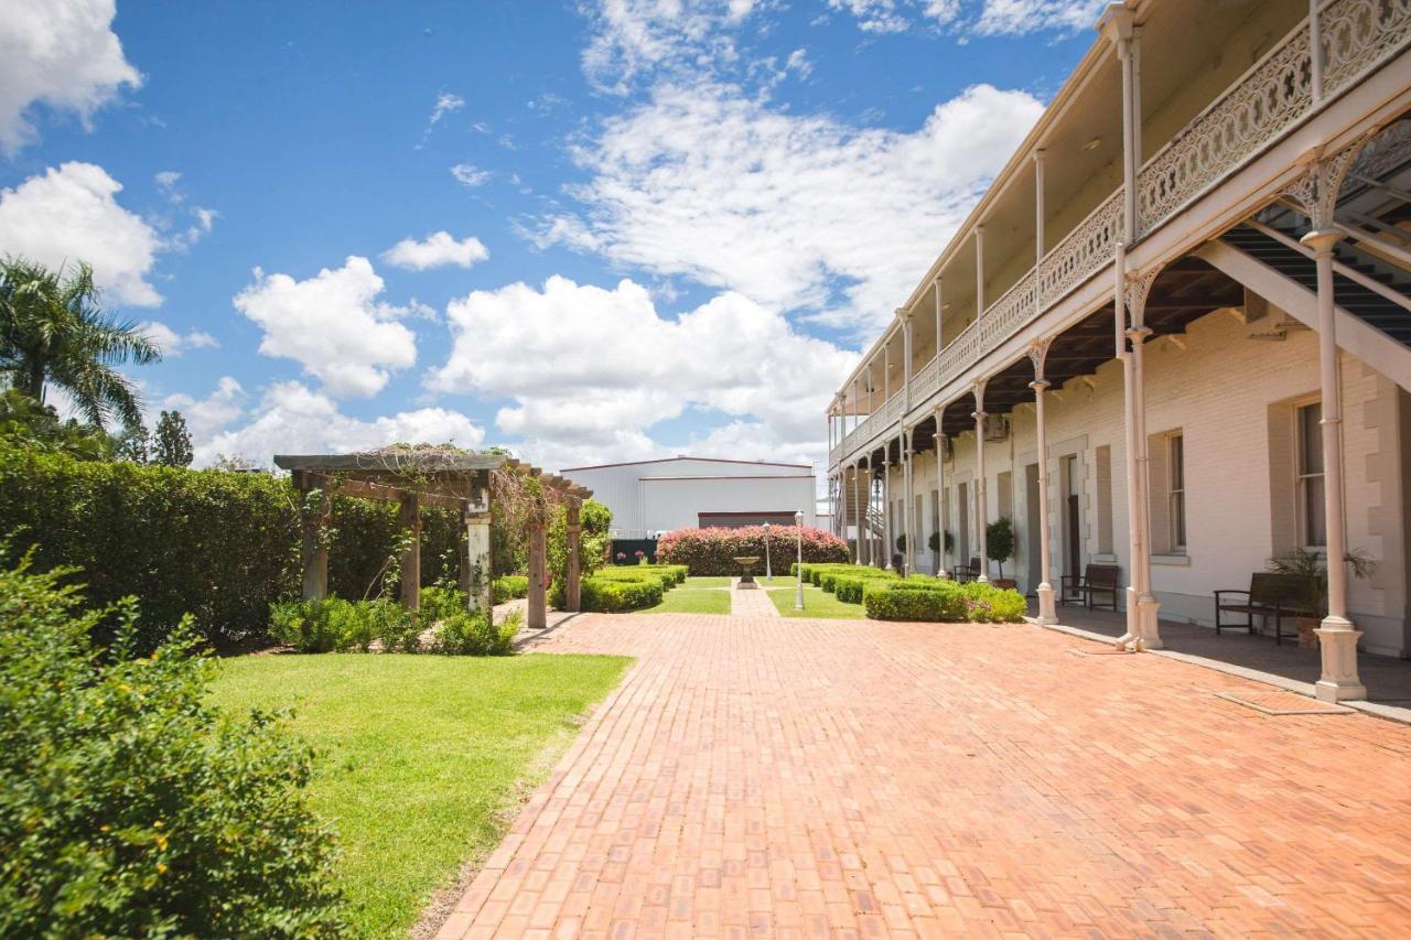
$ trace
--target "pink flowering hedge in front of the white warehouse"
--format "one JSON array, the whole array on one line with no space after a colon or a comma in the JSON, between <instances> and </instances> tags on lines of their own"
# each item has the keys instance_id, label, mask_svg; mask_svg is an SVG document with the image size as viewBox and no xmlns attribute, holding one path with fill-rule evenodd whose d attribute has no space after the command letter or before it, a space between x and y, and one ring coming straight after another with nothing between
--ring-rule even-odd
<instances>
[{"instance_id":1,"label":"pink flowering hedge in front of the white warehouse","mask_svg":"<svg viewBox=\"0 0 1411 940\"><path fill-rule=\"evenodd\" d=\"M769 528L769 555L776 572L787 572L797 560L796 526ZM735 558L758 555L756 573L765 570L765 526L748 525L738 529L676 529L656 542L658 565L686 565L691 574L738 574ZM847 562L848 546L825 529L803 529L804 562Z\"/></svg>"}]
</instances>

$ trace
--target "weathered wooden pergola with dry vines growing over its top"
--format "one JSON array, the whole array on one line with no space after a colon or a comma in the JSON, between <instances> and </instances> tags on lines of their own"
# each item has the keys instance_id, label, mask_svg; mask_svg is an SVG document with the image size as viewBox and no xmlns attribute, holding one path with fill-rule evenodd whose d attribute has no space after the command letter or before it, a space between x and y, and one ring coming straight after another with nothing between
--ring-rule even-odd
<instances>
[{"instance_id":1,"label":"weathered wooden pergola with dry vines growing over its top","mask_svg":"<svg viewBox=\"0 0 1411 940\"><path fill-rule=\"evenodd\" d=\"M303 515L303 597L323 598L329 590L329 550L320 538L327 524L334 495L396 502L401 524L413 535L402 553L401 600L406 607L420 607L422 594L422 508L433 507L459 512L460 518L460 589L470 610L488 611L494 605L491 572L491 500L492 476L535 477L545 500L536 501L529 517L529 615L528 627L542 629L547 614L547 502L562 502L567 514L569 570L564 584L564 608L580 607L581 559L580 510L593 491L571 480L547 474L499 454L476 454L453 447L385 447L363 453L278 454L277 467L288 470L295 488L305 497ZM310 505L309 494L317 493Z\"/></svg>"}]
</instances>

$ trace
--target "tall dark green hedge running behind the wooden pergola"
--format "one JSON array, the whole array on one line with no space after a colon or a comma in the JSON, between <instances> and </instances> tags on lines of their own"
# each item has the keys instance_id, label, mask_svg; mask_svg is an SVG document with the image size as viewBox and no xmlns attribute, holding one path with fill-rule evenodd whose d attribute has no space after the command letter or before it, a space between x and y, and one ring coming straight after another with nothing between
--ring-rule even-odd
<instances>
[{"instance_id":1,"label":"tall dark green hedge running behind the wooden pergola","mask_svg":"<svg viewBox=\"0 0 1411 940\"><path fill-rule=\"evenodd\" d=\"M450 512L423 514L423 586L456 570L456 525ZM334 498L330 526L329 590L361 598L392 550L396 507ZM17 550L35 546L37 570L82 569L75 577L95 607L140 597L143 652L186 613L217 646L264 635L270 604L299 589L298 495L262 473L0 445L0 532Z\"/></svg>"}]
</instances>

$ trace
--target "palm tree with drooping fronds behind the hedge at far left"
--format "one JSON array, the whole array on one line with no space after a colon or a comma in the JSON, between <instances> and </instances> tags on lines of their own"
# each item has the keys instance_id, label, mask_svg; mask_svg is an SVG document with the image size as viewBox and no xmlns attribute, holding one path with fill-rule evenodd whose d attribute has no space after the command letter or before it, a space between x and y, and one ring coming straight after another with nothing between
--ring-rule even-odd
<instances>
[{"instance_id":1,"label":"palm tree with drooping fronds behind the hedge at far left","mask_svg":"<svg viewBox=\"0 0 1411 940\"><path fill-rule=\"evenodd\" d=\"M117 371L162 353L130 320L99 308L93 268L51 271L24 258L0 261L0 373L35 401L52 384L66 391L93 425L117 418L143 422L137 388Z\"/></svg>"}]
</instances>

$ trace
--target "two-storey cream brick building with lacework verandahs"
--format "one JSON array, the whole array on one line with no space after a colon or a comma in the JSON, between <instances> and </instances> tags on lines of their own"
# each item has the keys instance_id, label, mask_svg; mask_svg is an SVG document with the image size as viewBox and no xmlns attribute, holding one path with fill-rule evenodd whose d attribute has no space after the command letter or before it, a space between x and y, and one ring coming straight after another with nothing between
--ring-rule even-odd
<instances>
[{"instance_id":1,"label":"two-storey cream brick building with lacework verandahs","mask_svg":"<svg viewBox=\"0 0 1411 940\"><path fill-rule=\"evenodd\" d=\"M983 577L1007 518L1038 618L1116 565L1136 648L1277 556L1355 553L1318 692L1360 697L1359 646L1411 651L1411 0L1127 0L1096 27L838 387L834 525L864 562L906 535L910 567Z\"/></svg>"}]
</instances>

